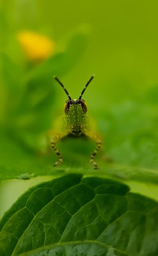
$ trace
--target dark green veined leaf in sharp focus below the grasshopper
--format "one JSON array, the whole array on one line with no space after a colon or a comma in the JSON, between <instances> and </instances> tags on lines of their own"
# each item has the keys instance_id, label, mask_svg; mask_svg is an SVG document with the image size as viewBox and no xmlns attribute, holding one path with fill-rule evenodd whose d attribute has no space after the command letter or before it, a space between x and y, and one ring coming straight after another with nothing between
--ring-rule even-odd
<instances>
[{"instance_id":1,"label":"dark green veined leaf in sharp focus below the grasshopper","mask_svg":"<svg viewBox=\"0 0 158 256\"><path fill-rule=\"evenodd\" d=\"M158 203L111 179L70 174L32 187L3 216L0 254L158 253Z\"/></svg>"}]
</instances>

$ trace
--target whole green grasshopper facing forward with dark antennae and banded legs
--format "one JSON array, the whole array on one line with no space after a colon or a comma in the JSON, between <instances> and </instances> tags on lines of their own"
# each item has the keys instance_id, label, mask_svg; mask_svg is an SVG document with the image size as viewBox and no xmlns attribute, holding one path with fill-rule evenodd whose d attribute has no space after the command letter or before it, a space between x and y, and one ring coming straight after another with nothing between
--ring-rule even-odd
<instances>
[{"instance_id":1,"label":"whole green grasshopper facing forward with dark antennae and banded legs","mask_svg":"<svg viewBox=\"0 0 158 256\"><path fill-rule=\"evenodd\" d=\"M90 127L88 125L88 118L87 118L87 104L85 103L85 100L82 99L82 96L85 92L85 89L88 87L89 83L94 78L94 75L90 77L87 84L85 85L85 88L82 90L81 95L78 97L78 99L72 99L70 97L69 92L67 92L64 85L62 85L62 82L58 80L56 76L54 76L55 80L58 81L58 84L62 86L64 91L66 92L66 95L68 96L68 100L66 100L66 104L64 105L64 111L65 111L65 126L64 129L62 129L61 133L56 134L52 141L51 141L51 148L54 149L55 153L58 156L58 160L55 162L54 166L62 163L62 155L56 148L56 143L62 139L62 137L66 137L69 135L72 135L74 137L80 137L80 136L87 136L90 137L93 141L96 142L96 148L94 149L94 152L92 152L92 155L90 156L90 163L93 165L95 169L98 169L98 166L96 162L94 161L94 157L96 156L96 153L100 150L101 141L96 134L92 133L92 130L90 130Z\"/></svg>"}]
</instances>

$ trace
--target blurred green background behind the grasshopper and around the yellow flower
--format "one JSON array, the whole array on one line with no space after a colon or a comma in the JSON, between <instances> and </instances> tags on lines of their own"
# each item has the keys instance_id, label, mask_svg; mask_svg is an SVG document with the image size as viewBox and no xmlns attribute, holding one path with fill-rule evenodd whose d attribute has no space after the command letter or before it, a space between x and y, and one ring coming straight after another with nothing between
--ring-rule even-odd
<instances>
[{"instance_id":1,"label":"blurred green background behind the grasshopper and around the yellow flower","mask_svg":"<svg viewBox=\"0 0 158 256\"><path fill-rule=\"evenodd\" d=\"M57 171L56 156L43 149L66 101L52 75L76 98L95 73L84 99L104 141L98 174L157 183L157 8L157 1L1 0L1 179L77 171L78 163L78 171L92 171L91 141L59 145L65 165ZM28 59L17 40L24 31L52 40L55 52Z\"/></svg>"}]
</instances>

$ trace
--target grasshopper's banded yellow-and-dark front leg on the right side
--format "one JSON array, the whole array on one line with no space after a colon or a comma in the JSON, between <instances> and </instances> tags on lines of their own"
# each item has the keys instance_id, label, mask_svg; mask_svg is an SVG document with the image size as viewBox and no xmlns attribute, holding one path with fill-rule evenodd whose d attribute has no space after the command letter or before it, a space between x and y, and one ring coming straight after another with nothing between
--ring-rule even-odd
<instances>
[{"instance_id":1,"label":"grasshopper's banded yellow-and-dark front leg on the right side","mask_svg":"<svg viewBox=\"0 0 158 256\"><path fill-rule=\"evenodd\" d=\"M96 142L96 148L94 149L94 152L92 152L92 155L90 157L90 163L93 165L94 169L97 170L97 169L99 169L99 167L96 164L96 162L94 161L94 157L100 151L101 140L100 140L100 138L96 134L86 133L85 135L90 137L92 139L92 141Z\"/></svg>"}]
</instances>

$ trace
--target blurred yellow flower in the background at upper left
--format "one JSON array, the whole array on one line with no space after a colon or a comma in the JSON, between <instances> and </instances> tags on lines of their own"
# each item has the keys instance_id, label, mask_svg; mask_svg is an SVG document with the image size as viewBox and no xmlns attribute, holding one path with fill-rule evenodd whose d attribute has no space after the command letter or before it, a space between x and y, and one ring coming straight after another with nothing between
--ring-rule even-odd
<instances>
[{"instance_id":1,"label":"blurred yellow flower in the background at upper left","mask_svg":"<svg viewBox=\"0 0 158 256\"><path fill-rule=\"evenodd\" d=\"M23 31L17 35L17 40L24 50L26 58L32 62L39 62L50 57L55 52L54 41L37 34L36 32Z\"/></svg>"}]
</instances>

